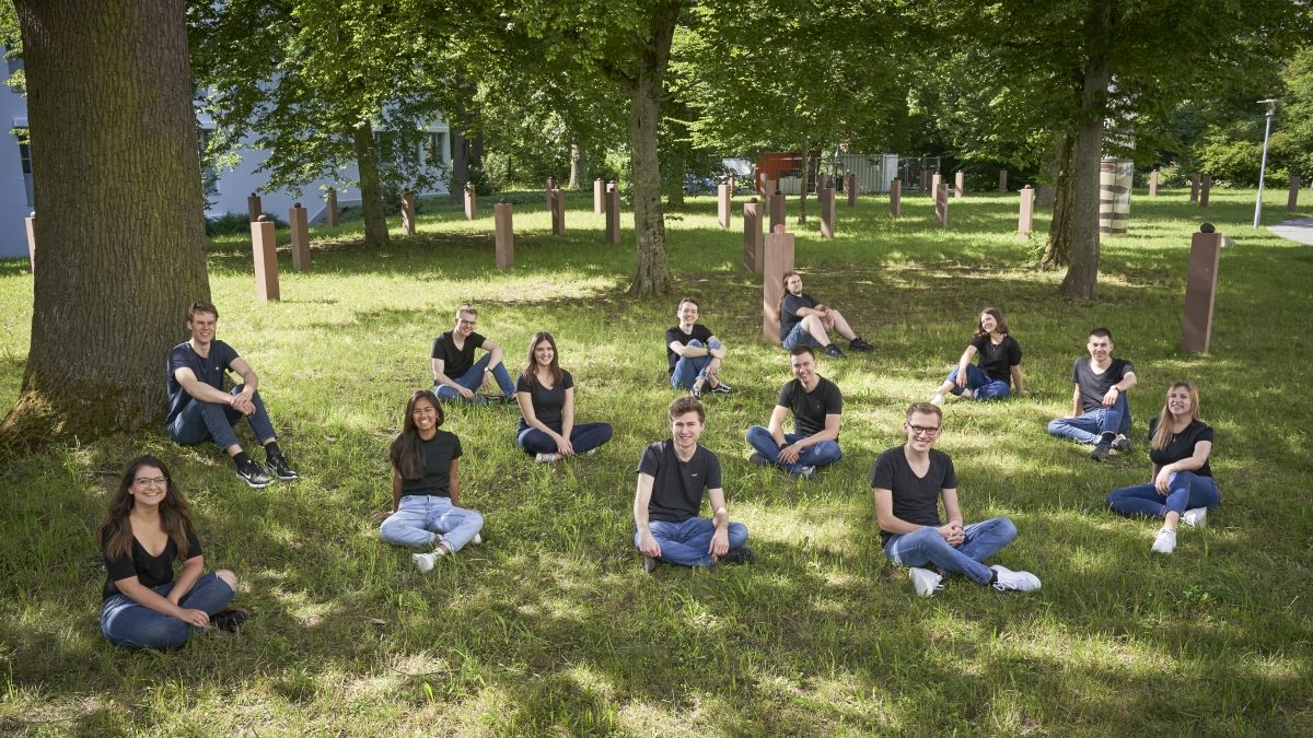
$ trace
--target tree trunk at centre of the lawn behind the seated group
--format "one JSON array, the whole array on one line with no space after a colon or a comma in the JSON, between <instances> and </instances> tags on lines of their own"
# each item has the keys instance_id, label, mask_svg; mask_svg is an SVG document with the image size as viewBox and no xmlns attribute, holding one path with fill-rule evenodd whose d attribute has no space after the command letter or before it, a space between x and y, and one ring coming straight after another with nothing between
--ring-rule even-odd
<instances>
[{"instance_id":1,"label":"tree trunk at centre of the lawn behind the seated group","mask_svg":"<svg viewBox=\"0 0 1313 738\"><path fill-rule=\"evenodd\" d=\"M637 76L626 81L629 89L629 169L634 185L634 235L638 263L634 268L632 294L666 294L671 289L666 264L666 218L660 207L660 162L656 156L656 133L660 122L660 97L670 45L675 37L680 0L655 4L651 13L647 46L638 54Z\"/></svg>"}]
</instances>

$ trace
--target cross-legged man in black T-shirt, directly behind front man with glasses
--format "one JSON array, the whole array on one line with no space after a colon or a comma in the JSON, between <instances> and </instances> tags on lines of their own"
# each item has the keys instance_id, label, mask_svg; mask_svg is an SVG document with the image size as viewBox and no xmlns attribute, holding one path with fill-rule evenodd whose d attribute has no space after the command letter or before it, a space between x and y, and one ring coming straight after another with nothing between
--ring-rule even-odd
<instances>
[{"instance_id":1,"label":"cross-legged man in black T-shirt, directly behind front man with glasses","mask_svg":"<svg viewBox=\"0 0 1313 738\"><path fill-rule=\"evenodd\" d=\"M793 380L780 387L780 397L765 428L747 429L752 464L775 464L800 479L810 479L818 466L839 461L839 423L843 395L839 387L815 373L815 353L805 345L789 352ZM793 432L784 432L784 418L793 412Z\"/></svg>"}]
</instances>

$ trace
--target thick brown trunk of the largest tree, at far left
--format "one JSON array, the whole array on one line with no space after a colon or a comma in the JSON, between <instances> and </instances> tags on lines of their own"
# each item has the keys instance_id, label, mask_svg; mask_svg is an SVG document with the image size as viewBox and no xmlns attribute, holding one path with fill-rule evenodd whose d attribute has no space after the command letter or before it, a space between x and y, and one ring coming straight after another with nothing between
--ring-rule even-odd
<instances>
[{"instance_id":1,"label":"thick brown trunk of the largest tree, at far left","mask_svg":"<svg viewBox=\"0 0 1313 738\"><path fill-rule=\"evenodd\" d=\"M32 348L0 443L158 422L164 357L209 299L201 169L173 0L17 0L37 204Z\"/></svg>"}]
</instances>

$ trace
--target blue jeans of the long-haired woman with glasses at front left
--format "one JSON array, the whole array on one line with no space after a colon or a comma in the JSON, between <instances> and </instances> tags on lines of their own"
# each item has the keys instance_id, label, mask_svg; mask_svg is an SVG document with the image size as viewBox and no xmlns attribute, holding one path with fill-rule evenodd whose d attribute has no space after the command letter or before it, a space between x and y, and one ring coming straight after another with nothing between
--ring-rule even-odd
<instances>
[{"instance_id":1,"label":"blue jeans of the long-haired woman with glasses at front left","mask_svg":"<svg viewBox=\"0 0 1313 738\"><path fill-rule=\"evenodd\" d=\"M151 587L156 595L167 597L173 591L173 582ZM232 601L232 588L213 571L202 575L192 584L192 591L179 603L188 609L204 609L214 615ZM192 633L202 633L163 612L137 604L127 595L114 595L100 605L100 632L116 646L130 649L172 649L186 642Z\"/></svg>"}]
</instances>

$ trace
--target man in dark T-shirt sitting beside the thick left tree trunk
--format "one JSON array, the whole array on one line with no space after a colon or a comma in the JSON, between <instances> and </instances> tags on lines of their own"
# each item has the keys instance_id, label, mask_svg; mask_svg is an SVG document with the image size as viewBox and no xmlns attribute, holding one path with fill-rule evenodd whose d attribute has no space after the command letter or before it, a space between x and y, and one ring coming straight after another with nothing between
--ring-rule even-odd
<instances>
[{"instance_id":1,"label":"man in dark T-shirt sitting beside the thick left tree trunk","mask_svg":"<svg viewBox=\"0 0 1313 738\"><path fill-rule=\"evenodd\" d=\"M232 458L238 478L256 490L269 485L270 471L280 479L295 479L298 474L278 448L269 414L256 391L260 378L232 347L214 337L218 320L219 310L209 302L193 302L186 311L192 339L177 344L168 355L168 418L164 420L168 437L183 445L213 439ZM223 378L230 370L242 377L242 383L223 391ZM268 470L242 450L234 428L242 418L264 446Z\"/></svg>"}]
</instances>

